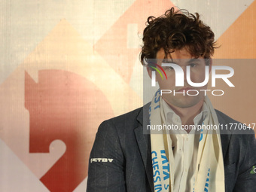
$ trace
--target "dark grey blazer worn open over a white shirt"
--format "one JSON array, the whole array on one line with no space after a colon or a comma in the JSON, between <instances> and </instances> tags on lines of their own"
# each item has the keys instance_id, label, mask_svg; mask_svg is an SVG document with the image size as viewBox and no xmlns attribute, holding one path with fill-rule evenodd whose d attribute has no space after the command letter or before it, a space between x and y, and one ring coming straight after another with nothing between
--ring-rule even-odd
<instances>
[{"instance_id":1,"label":"dark grey blazer worn open over a white shirt","mask_svg":"<svg viewBox=\"0 0 256 192\"><path fill-rule=\"evenodd\" d=\"M238 123L216 113L219 123ZM142 121L143 110L138 108L99 126L90 154L88 192L154 191L150 135L143 134ZM256 191L253 131L248 135L221 134L221 144L226 192Z\"/></svg>"}]
</instances>

